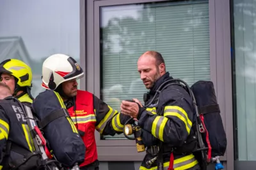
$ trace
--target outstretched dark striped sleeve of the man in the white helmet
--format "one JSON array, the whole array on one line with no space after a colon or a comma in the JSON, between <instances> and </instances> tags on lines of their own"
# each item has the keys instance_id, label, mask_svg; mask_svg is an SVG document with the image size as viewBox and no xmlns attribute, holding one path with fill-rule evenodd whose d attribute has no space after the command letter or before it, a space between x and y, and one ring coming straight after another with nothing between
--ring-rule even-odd
<instances>
[{"instance_id":1,"label":"outstretched dark striped sleeve of the man in the white helmet","mask_svg":"<svg viewBox=\"0 0 256 170\"><path fill-rule=\"evenodd\" d=\"M96 130L103 135L115 135L123 132L124 124L129 116L118 113L111 106L93 95Z\"/></svg>"}]
</instances>

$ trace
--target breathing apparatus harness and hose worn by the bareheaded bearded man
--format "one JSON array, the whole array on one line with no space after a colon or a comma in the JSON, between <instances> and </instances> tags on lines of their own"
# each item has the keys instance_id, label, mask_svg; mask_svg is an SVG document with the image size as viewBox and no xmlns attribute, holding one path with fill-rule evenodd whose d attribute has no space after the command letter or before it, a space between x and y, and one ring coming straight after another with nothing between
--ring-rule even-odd
<instances>
[{"instance_id":1,"label":"breathing apparatus harness and hose worn by the bareheaded bearded man","mask_svg":"<svg viewBox=\"0 0 256 170\"><path fill-rule=\"evenodd\" d=\"M181 84L181 83L182 84ZM154 97L148 101L147 105L144 105L143 107L147 108L150 104L152 104L152 102L154 102L154 100L156 100L157 97L159 97L159 94L166 88L168 88L168 86L170 85L178 85L178 86L182 86L182 88L186 89L186 91L189 93L189 96L192 98L193 100L193 106L195 108L196 111L196 136L198 137L198 144L200 146L200 148L196 151L200 151L201 152L201 157L203 160L206 160L207 155L206 155L206 150L208 149L207 147L205 147L204 141L202 139L202 135L200 133L205 132L204 126L202 125L202 121L200 120L200 115L198 112L198 107L196 105L196 100L195 100L195 96L193 95L193 92L191 91L191 89L189 88L188 84L186 84L186 82L180 80L180 79L171 79L168 81L163 82L159 88L156 90L156 93L154 95ZM158 100L158 99L157 99ZM129 102L134 102L133 100L127 100ZM133 123L133 126L131 124L128 124L129 121L131 121L133 118L130 118L129 120L127 120L125 122L124 125L124 129L123 129L123 133L125 135L125 137L127 137L127 139L130 140L135 140L136 139L136 145L137 145L137 150L142 148L142 147L138 147L138 145L140 146L141 144L138 143L138 140L140 139L140 137L138 137L138 134L141 134L141 130L140 127L138 127L138 125L135 125L135 123ZM128 135L131 135L133 132L134 137L129 137ZM137 134L136 134L137 133ZM141 141L142 142L142 141ZM156 157L148 160L146 162L146 164L148 166L152 165L156 160L157 157L159 158L158 164L157 164L157 169L158 170L163 170L163 148L162 148L162 141L159 140L159 154L156 155ZM138 150L138 152L140 152L141 150ZM145 151L145 146L144 146L144 150ZM162 158L161 158L162 157ZM172 156L171 156L172 157Z\"/></svg>"}]
</instances>

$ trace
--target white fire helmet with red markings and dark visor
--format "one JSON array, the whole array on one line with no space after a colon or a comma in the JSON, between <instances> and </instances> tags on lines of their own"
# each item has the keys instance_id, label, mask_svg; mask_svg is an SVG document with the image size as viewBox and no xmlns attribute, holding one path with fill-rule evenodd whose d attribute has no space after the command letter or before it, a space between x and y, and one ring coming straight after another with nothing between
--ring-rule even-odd
<instances>
[{"instance_id":1,"label":"white fire helmet with red markings and dark visor","mask_svg":"<svg viewBox=\"0 0 256 170\"><path fill-rule=\"evenodd\" d=\"M65 54L54 54L43 63L42 87L54 90L62 82L80 79L83 76L83 69L75 59Z\"/></svg>"}]
</instances>

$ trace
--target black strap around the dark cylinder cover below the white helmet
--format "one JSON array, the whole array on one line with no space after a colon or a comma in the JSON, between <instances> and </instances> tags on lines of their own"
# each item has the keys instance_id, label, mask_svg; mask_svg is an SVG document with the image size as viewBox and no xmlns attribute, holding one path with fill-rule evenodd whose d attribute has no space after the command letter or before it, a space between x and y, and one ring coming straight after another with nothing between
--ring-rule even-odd
<instances>
[{"instance_id":1,"label":"black strap around the dark cylinder cover below the white helmet","mask_svg":"<svg viewBox=\"0 0 256 170\"><path fill-rule=\"evenodd\" d=\"M55 111L52 111L48 116L46 116L42 121L38 122L38 125L40 126L40 128L44 128L46 127L49 123L51 123L52 121L61 118L62 116L68 116L68 112L66 109L57 109Z\"/></svg>"}]
</instances>

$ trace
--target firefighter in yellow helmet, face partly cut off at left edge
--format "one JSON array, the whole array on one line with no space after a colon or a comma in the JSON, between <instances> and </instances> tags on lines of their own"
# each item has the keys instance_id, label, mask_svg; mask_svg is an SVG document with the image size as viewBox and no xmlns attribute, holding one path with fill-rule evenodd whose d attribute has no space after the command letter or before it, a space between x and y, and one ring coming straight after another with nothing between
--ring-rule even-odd
<instances>
[{"instance_id":1,"label":"firefighter in yellow helmet, face partly cut off at left edge","mask_svg":"<svg viewBox=\"0 0 256 170\"><path fill-rule=\"evenodd\" d=\"M0 81L10 87L13 97L20 102L31 105L31 68L19 59L6 59L0 63Z\"/></svg>"}]
</instances>

